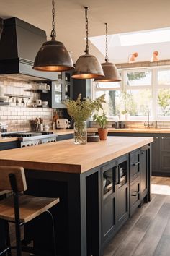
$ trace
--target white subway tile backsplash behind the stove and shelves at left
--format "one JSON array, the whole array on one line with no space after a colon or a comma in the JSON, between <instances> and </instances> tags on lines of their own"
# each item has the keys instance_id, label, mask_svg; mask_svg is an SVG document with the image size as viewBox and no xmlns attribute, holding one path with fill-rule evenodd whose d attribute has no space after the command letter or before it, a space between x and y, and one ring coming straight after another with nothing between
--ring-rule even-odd
<instances>
[{"instance_id":1,"label":"white subway tile backsplash behind the stove and shelves at left","mask_svg":"<svg viewBox=\"0 0 170 256\"><path fill-rule=\"evenodd\" d=\"M17 97L8 97L9 106L0 106L0 123L6 122L9 131L30 130L30 119L41 117L46 124L52 123L52 108L32 108L27 103L34 102L40 98L40 93L28 91L35 89L35 82L27 83L17 80L11 80L6 77L0 77L1 84L4 85L4 92L10 95L23 96L25 104L21 103L22 97L18 97L19 103L16 105ZM31 97L30 99L27 96ZM26 97L26 98L25 98Z\"/></svg>"}]
</instances>

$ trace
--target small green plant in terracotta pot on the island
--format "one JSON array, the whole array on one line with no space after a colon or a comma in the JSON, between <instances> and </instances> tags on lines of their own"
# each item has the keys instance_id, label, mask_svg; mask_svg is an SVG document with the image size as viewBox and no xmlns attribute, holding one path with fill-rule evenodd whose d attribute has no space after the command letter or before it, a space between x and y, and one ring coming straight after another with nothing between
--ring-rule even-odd
<instances>
[{"instance_id":1,"label":"small green plant in terracotta pot on the island","mask_svg":"<svg viewBox=\"0 0 170 256\"><path fill-rule=\"evenodd\" d=\"M107 129L107 116L103 111L103 114L101 116L94 114L93 120L99 124L98 128L98 133L99 133L99 138L100 140L107 140L107 134L108 134L108 129Z\"/></svg>"}]
</instances>

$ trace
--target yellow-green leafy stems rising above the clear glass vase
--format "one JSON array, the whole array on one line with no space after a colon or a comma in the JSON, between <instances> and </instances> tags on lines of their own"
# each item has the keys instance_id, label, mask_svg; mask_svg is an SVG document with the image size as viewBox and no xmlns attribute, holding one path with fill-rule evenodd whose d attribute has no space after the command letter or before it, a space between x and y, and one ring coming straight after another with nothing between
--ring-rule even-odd
<instances>
[{"instance_id":1,"label":"yellow-green leafy stems rising above the clear glass vase","mask_svg":"<svg viewBox=\"0 0 170 256\"><path fill-rule=\"evenodd\" d=\"M89 119L94 111L99 111L100 108L103 109L102 103L105 103L104 97L105 95L103 94L95 100L91 100L91 98L83 98L81 101L81 94L79 94L76 101L67 100L64 103L67 106L68 114L72 117L73 121L82 123Z\"/></svg>"}]
</instances>

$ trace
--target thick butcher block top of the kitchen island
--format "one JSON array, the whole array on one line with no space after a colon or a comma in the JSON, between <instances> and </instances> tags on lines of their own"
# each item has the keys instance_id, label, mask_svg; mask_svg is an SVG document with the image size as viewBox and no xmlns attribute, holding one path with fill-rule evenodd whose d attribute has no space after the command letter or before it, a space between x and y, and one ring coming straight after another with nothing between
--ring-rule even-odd
<instances>
[{"instance_id":1,"label":"thick butcher block top of the kitchen island","mask_svg":"<svg viewBox=\"0 0 170 256\"><path fill-rule=\"evenodd\" d=\"M107 137L106 141L75 145L73 139L1 151L0 166L83 173L153 142L153 137Z\"/></svg>"}]
</instances>

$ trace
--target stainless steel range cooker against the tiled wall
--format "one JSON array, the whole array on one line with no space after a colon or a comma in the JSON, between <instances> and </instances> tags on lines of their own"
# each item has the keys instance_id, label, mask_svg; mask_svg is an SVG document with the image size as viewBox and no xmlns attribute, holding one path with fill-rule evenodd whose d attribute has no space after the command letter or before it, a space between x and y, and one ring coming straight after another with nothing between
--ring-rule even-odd
<instances>
[{"instance_id":1,"label":"stainless steel range cooker against the tiled wall","mask_svg":"<svg viewBox=\"0 0 170 256\"><path fill-rule=\"evenodd\" d=\"M53 132L3 132L2 137L18 137L19 146L30 147L33 145L55 142L56 134Z\"/></svg>"}]
</instances>

